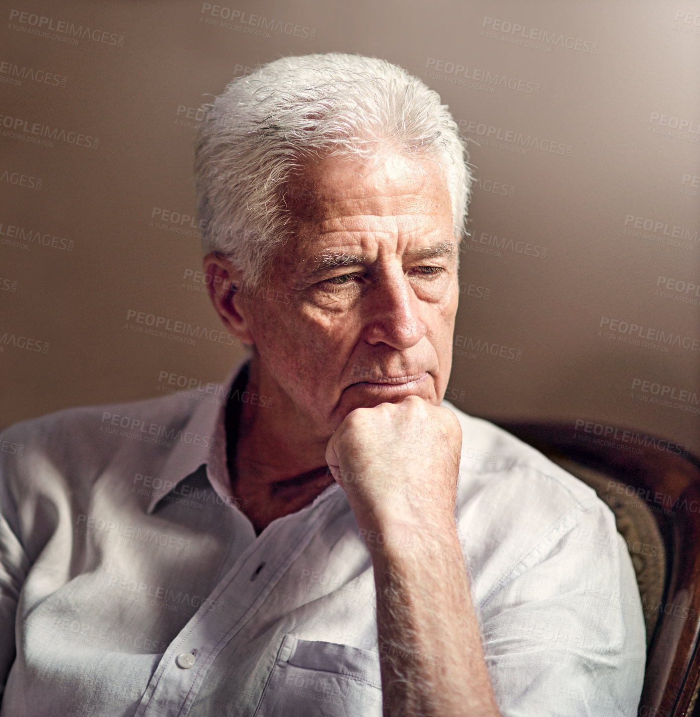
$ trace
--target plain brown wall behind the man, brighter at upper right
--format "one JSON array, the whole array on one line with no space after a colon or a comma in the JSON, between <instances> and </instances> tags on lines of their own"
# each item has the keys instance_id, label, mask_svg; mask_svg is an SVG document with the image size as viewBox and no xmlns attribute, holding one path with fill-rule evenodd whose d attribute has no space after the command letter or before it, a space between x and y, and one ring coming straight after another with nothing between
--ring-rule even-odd
<instances>
[{"instance_id":1,"label":"plain brown wall behind the man, brighter at upper right","mask_svg":"<svg viewBox=\"0 0 700 717\"><path fill-rule=\"evenodd\" d=\"M341 51L422 77L474 140L448 398L488 417L625 424L700 452L700 288L687 287L700 286L699 2L235 0L219 17L210 5L1 10L1 426L157 396L163 371L227 374L241 350L216 340L193 280L195 222L182 223L197 108L246 67ZM61 22L91 37L64 42ZM251 34L262 22L268 37ZM34 123L82 146L28 141ZM49 243L19 242L17 227ZM214 340L136 333L130 310ZM656 339L628 343L605 319ZM669 405L653 402L661 386Z\"/></svg>"}]
</instances>

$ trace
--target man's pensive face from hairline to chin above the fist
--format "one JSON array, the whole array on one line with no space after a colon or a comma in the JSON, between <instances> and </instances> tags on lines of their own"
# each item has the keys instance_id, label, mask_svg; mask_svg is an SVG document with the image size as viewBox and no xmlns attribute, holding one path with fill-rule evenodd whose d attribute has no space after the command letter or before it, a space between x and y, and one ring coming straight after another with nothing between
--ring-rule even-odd
<instances>
[{"instance_id":1,"label":"man's pensive face from hairline to chin above the fist","mask_svg":"<svg viewBox=\"0 0 700 717\"><path fill-rule=\"evenodd\" d=\"M392 155L369 169L328 158L290 195L295 236L269 290L235 303L260 356L260 391L326 437L358 407L409 395L439 405L459 292L435 163Z\"/></svg>"}]
</instances>

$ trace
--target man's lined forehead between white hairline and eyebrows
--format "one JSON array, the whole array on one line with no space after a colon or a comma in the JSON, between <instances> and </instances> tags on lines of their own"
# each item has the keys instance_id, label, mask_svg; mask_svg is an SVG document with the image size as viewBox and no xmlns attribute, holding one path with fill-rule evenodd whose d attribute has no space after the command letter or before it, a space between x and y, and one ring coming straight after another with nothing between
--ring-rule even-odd
<instances>
[{"instance_id":1,"label":"man's lined forehead between white hairline and eyebrows","mask_svg":"<svg viewBox=\"0 0 700 717\"><path fill-rule=\"evenodd\" d=\"M294 222L285 259L293 264L331 247L387 240L400 250L453 239L450 194L430 160L388 154L367 166L326 158L306 164L285 199Z\"/></svg>"}]
</instances>

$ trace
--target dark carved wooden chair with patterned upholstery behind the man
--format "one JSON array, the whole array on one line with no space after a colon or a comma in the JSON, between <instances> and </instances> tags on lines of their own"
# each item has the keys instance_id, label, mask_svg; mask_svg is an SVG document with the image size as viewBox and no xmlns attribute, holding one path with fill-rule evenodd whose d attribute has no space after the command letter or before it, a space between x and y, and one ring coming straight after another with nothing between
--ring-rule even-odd
<instances>
[{"instance_id":1,"label":"dark carved wooden chair with patterned upholstery behind the man","mask_svg":"<svg viewBox=\"0 0 700 717\"><path fill-rule=\"evenodd\" d=\"M675 442L600 422L491 420L591 485L615 513L647 627L638 715L691 716L700 685L700 460ZM663 549L643 547L654 545Z\"/></svg>"}]
</instances>

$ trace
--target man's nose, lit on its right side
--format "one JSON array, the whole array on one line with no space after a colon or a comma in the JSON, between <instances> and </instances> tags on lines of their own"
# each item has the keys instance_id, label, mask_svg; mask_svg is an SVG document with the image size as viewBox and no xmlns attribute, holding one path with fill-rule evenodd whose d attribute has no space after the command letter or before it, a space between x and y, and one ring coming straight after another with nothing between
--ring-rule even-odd
<instances>
[{"instance_id":1,"label":"man's nose, lit on its right side","mask_svg":"<svg viewBox=\"0 0 700 717\"><path fill-rule=\"evenodd\" d=\"M386 343L399 351L415 346L427 333L420 302L402 267L382 272L364 298L367 343Z\"/></svg>"}]
</instances>

